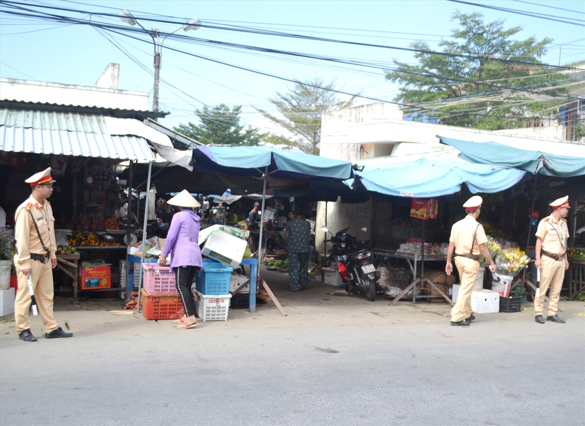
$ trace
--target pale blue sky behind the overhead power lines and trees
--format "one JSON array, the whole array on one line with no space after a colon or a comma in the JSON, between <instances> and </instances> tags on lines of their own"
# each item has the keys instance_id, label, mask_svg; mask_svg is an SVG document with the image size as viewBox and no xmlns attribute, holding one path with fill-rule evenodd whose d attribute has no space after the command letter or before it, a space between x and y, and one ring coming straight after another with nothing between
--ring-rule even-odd
<instances>
[{"instance_id":1,"label":"pale blue sky behind the overhead power lines and trees","mask_svg":"<svg viewBox=\"0 0 585 426\"><path fill-rule=\"evenodd\" d=\"M83 0L86 4L98 2ZM475 2L497 5L511 9L550 13L585 19L583 14L545 8L542 5L585 12L583 1L538 1L528 4L520 1ZM90 6L80 2L38 2L57 4L70 8L88 10ZM536 36L538 39L551 37L554 41L545 60L550 64L569 63L585 58L583 27L567 25L504 13L491 9L457 4L446 0L436 1L101 1L112 12L126 8L138 15L139 12L160 13L184 17L197 16L202 22L225 21L238 25L263 27L280 31L309 34L332 39L363 41L407 47L413 40L426 40L432 49L441 38L456 27L450 22L455 9L464 13L479 11L486 20L507 19L506 26L523 25L524 30L517 38ZM121 23L116 18L111 22ZM177 25L143 22L147 28L158 26L161 30L172 31ZM40 31L39 31L40 30ZM180 33L187 36L251 44L274 49L293 50L304 53L324 54L343 58L387 62L393 58L412 63L411 52L374 47L348 46L318 41L284 39L283 37L259 34L243 34L202 27L197 31ZM138 61L153 70L152 40L144 34L142 41L117 36L122 46ZM572 43L571 43L572 42ZM571 43L571 44L566 44ZM561 46L559 46L559 44ZM316 60L290 60L273 54L251 54L199 44L167 40L164 46L189 50L202 56L216 58L228 63L255 68L270 74L287 78L311 79L319 77L325 81L336 80L339 88L348 92L362 92L368 96L391 100L397 93L397 86L384 80L381 70L349 67L322 63ZM559 51L560 50L560 51ZM153 77L146 70L125 56L111 41L97 30L88 26L42 25L23 22L19 18L0 21L0 76L9 78L36 79L66 84L93 85L106 65L110 62L121 64L121 89L152 92ZM162 122L176 126L178 123L194 121L192 110L203 105L243 105L242 119L245 124L280 133L274 124L260 117L253 106L274 110L267 98L274 92L287 91L290 83L276 78L237 70L226 65L215 64L201 58L190 57L163 48L161 78L176 86L177 91L164 82L160 89L160 108L171 115ZM360 101L362 103L371 101ZM152 103L152 99L151 99Z\"/></svg>"}]
</instances>

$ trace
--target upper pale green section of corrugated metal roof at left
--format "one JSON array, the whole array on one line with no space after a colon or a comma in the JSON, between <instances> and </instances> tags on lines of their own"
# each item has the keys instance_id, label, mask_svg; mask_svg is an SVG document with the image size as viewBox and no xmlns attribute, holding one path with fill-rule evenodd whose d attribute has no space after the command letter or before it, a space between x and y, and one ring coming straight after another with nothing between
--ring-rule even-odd
<instances>
[{"instance_id":1,"label":"upper pale green section of corrugated metal roof at left","mask_svg":"<svg viewBox=\"0 0 585 426\"><path fill-rule=\"evenodd\" d=\"M0 126L108 134L102 115L39 109L0 108Z\"/></svg>"}]
</instances>

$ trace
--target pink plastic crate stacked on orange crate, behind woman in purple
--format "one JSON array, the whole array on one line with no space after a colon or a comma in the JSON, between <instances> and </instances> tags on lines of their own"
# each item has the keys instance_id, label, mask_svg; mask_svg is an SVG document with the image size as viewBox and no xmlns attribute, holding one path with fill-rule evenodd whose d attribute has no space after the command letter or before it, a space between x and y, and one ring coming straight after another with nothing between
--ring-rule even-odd
<instances>
[{"instance_id":1,"label":"pink plastic crate stacked on orange crate, behind woman in purple","mask_svg":"<svg viewBox=\"0 0 585 426\"><path fill-rule=\"evenodd\" d=\"M147 320L176 320L185 314L175 286L175 273L169 266L142 264L144 286L140 292L142 314Z\"/></svg>"}]
</instances>

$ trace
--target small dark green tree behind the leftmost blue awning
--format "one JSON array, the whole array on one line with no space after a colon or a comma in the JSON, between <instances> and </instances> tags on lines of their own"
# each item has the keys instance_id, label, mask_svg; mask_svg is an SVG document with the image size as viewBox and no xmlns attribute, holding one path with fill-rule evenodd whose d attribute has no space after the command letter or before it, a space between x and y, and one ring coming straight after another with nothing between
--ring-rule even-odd
<instances>
[{"instance_id":1,"label":"small dark green tree behind the leftmost blue awning","mask_svg":"<svg viewBox=\"0 0 585 426\"><path fill-rule=\"evenodd\" d=\"M268 133L260 133L259 129L240 124L242 105L235 106L231 110L223 103L213 109L205 106L204 109L195 110L200 124L189 122L179 124L174 129L185 136L202 144L257 146L264 142Z\"/></svg>"}]
</instances>

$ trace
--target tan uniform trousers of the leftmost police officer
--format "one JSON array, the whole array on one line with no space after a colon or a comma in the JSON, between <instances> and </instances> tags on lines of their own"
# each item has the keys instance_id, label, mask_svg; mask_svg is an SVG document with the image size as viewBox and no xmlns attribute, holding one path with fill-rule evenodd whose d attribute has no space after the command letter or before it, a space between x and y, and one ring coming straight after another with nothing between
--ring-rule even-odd
<instances>
[{"instance_id":1,"label":"tan uniform trousers of the leftmost police officer","mask_svg":"<svg viewBox=\"0 0 585 426\"><path fill-rule=\"evenodd\" d=\"M31 259L30 268L37 309L43 318L45 333L49 333L57 330L58 327L57 321L53 318L53 268L51 268L51 261L42 264ZM16 290L14 314L18 333L20 333L30 328L30 291L26 275L22 273L20 265L16 265L16 276L18 276L18 290Z\"/></svg>"}]
</instances>

